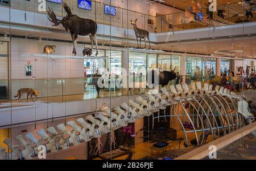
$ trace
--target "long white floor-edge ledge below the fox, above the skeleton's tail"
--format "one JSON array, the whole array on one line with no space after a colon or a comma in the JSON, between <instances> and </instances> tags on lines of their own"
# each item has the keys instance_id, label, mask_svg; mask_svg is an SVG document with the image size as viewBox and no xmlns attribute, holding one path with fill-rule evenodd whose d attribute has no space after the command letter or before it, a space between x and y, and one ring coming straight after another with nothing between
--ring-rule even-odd
<instances>
[{"instance_id":1,"label":"long white floor-edge ledge below the fox, above the skeleton's tail","mask_svg":"<svg viewBox=\"0 0 256 171\"><path fill-rule=\"evenodd\" d=\"M60 118L74 116L77 114L95 112L98 106L105 103L106 106L112 107L120 104L121 101L127 101L127 96L104 97L89 100L76 100L67 102L32 102L30 105L23 106L7 106L0 109L0 127L17 125L19 123L28 123L35 121L43 121L45 119ZM18 103L17 103L18 104ZM20 103L24 104L24 102ZM2 105L10 105L8 103ZM13 103L11 104L13 105Z\"/></svg>"}]
</instances>

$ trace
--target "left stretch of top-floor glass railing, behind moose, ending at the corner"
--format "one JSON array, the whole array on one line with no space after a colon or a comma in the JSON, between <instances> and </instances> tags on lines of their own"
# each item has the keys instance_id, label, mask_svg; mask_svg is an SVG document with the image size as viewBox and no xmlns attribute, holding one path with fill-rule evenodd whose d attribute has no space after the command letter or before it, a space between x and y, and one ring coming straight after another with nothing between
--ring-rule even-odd
<instances>
[{"instance_id":1,"label":"left stretch of top-floor glass railing, behind moose, ending at the corner","mask_svg":"<svg viewBox=\"0 0 256 171\"><path fill-rule=\"evenodd\" d=\"M84 10L79 8L77 3L78 1L66 1L67 5L71 7L72 13L76 14L82 18L88 18L92 20L96 20L97 23L112 25L115 27L122 27L122 28L129 28L133 29L133 25L131 25L130 20L138 19L137 27L141 29L146 29L147 31L154 32L155 30L155 23L148 24L148 19L155 20L155 16L142 14L140 12L126 10L121 7L116 8L115 15L105 14L105 5L101 2L92 1L92 8L91 10ZM46 2L47 8L52 8L55 12L56 16L65 16L66 12L63 7L59 3L52 3ZM47 12L39 11L38 10L39 2L36 0L31 1L11 1L11 8L24 10L24 11L31 11L31 12L38 12L47 14ZM115 6L112 4L112 6Z\"/></svg>"}]
</instances>

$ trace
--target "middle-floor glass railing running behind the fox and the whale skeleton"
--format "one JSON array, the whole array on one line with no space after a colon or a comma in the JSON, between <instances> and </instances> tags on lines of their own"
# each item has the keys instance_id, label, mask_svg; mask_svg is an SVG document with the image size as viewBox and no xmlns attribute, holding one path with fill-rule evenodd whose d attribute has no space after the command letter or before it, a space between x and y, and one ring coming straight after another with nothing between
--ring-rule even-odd
<instances>
[{"instance_id":1,"label":"middle-floor glass railing running behind the fox and the whale skeleton","mask_svg":"<svg viewBox=\"0 0 256 171\"><path fill-rule=\"evenodd\" d=\"M99 85L102 79L102 86ZM185 79L185 80L183 80ZM222 85L232 91L241 92L242 88L249 87L250 78L242 76L233 76L232 80L227 77L225 84L220 83L221 76L191 76L181 75L180 78L171 80L166 89L170 91L170 86L181 83L187 83L188 86L191 82L201 82L202 86L204 83L213 84L213 86ZM129 80L125 86L124 80ZM2 88L1 91L1 105L5 107L6 104L13 102L12 105L19 105L18 97L14 97L18 90L21 88L32 88L39 92L39 99L37 101L44 102L67 102L75 100L90 100L104 97L118 97L126 95L139 95L146 93L147 78L146 75L131 75L129 78L126 76L102 76L94 77L88 76L85 78L58 78L58 79L13 79L10 81L10 87L8 80L0 81ZM9 88L9 90L8 90ZM251 87L249 87L251 88ZM98 91L97 91L98 90ZM10 96L7 92L10 92ZM27 96L21 97L21 102L26 101ZM35 97L34 97L35 98ZM34 99L35 100L35 99ZM29 97L28 101L31 101Z\"/></svg>"}]
</instances>

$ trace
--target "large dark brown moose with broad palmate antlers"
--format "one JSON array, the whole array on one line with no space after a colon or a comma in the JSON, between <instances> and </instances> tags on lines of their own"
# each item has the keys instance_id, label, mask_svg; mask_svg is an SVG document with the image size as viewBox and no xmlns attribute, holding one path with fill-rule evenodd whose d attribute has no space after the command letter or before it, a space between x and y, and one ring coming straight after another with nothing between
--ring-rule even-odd
<instances>
[{"instance_id":1,"label":"large dark brown moose with broad palmate antlers","mask_svg":"<svg viewBox=\"0 0 256 171\"><path fill-rule=\"evenodd\" d=\"M54 23L53 26L57 26L62 24L65 28L65 31L69 31L71 33L72 41L73 41L73 54L76 55L76 47L75 41L77 36L88 36L90 37L90 41L92 43L92 48L94 42L96 44L96 56L98 55L98 42L97 42L97 23L91 19L80 18L79 16L72 14L71 8L67 5L67 3L63 2L64 10L67 12L67 15L63 17L63 19L57 19L55 13L52 9L48 8L48 19Z\"/></svg>"}]
</instances>

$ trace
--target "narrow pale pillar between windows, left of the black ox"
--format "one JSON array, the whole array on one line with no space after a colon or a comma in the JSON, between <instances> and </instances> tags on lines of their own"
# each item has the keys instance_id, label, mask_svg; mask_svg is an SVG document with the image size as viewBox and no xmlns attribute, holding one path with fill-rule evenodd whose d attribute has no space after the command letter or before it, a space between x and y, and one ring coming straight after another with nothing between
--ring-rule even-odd
<instances>
[{"instance_id":1,"label":"narrow pale pillar between windows, left of the black ox","mask_svg":"<svg viewBox=\"0 0 256 171\"><path fill-rule=\"evenodd\" d=\"M123 90L128 90L128 83L129 83L129 50L122 50L122 86Z\"/></svg>"}]
</instances>

